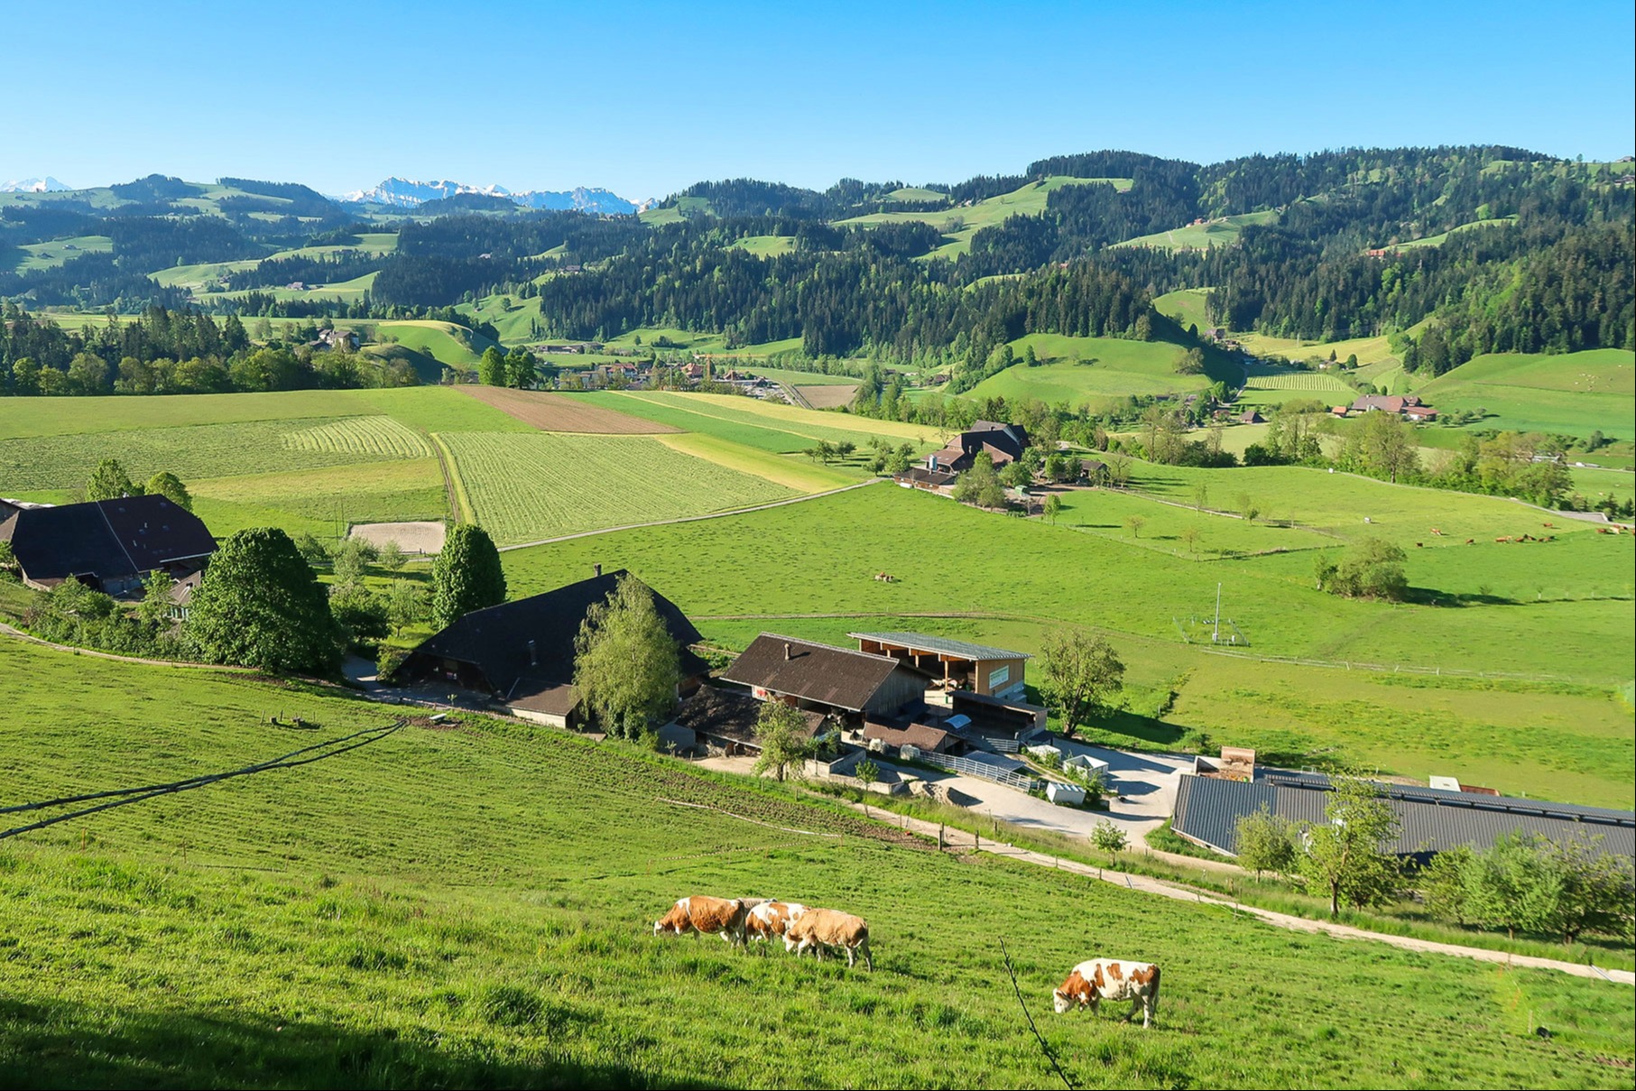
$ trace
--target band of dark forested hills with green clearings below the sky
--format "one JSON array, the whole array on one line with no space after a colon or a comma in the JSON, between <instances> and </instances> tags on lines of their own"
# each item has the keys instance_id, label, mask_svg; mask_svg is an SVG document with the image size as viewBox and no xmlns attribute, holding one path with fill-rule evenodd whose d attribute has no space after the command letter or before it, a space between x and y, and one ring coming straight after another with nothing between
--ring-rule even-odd
<instances>
[{"instance_id":1,"label":"band of dark forested hills with green clearings below the sky","mask_svg":"<svg viewBox=\"0 0 1636 1091\"><path fill-rule=\"evenodd\" d=\"M0 298L402 319L499 296L537 339L682 329L977 373L1024 334L1180 335L1152 298L1196 288L1214 326L1392 335L1409 370L1441 375L1487 352L1629 348L1631 231L1628 162L1513 147L1090 152L913 188L739 178L640 218L434 201L358 221L299 185L152 175L5 195Z\"/></svg>"}]
</instances>

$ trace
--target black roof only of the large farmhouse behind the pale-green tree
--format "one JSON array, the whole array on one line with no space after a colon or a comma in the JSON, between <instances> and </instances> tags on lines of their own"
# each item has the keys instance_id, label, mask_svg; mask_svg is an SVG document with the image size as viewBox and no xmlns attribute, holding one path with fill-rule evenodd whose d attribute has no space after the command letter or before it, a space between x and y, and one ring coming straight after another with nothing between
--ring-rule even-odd
<instances>
[{"instance_id":1,"label":"black roof only of the large farmhouse behind the pale-green tree","mask_svg":"<svg viewBox=\"0 0 1636 1091\"><path fill-rule=\"evenodd\" d=\"M427 638L412 654L470 662L502 698L566 685L574 679L574 638L579 635L579 623L594 604L614 592L623 574L620 569L592 576L556 590L473 610ZM653 594L653 604L671 638L681 646L682 677L708 674L710 664L687 649L703 640L694 623L658 592Z\"/></svg>"}]
</instances>

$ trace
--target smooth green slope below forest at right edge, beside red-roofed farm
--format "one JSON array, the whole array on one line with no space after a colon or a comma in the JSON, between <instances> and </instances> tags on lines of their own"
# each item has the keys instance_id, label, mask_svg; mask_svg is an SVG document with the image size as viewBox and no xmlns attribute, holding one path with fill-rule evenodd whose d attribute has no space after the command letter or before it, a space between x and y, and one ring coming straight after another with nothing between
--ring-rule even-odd
<instances>
[{"instance_id":1,"label":"smooth green slope below forest at right edge, beside red-roofed farm","mask_svg":"<svg viewBox=\"0 0 1636 1091\"><path fill-rule=\"evenodd\" d=\"M1484 411L1481 429L1631 438L1636 353L1592 348L1559 355L1489 353L1417 391L1443 411Z\"/></svg>"}]
</instances>

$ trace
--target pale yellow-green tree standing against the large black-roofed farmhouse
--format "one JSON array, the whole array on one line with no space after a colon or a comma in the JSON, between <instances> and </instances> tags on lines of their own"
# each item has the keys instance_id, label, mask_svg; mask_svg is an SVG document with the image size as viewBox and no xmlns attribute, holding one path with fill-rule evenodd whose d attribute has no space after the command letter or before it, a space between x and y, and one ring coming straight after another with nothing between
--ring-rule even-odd
<instances>
[{"instance_id":1,"label":"pale yellow-green tree standing against the large black-roofed farmhouse","mask_svg":"<svg viewBox=\"0 0 1636 1091\"><path fill-rule=\"evenodd\" d=\"M653 592L622 576L614 592L586 612L574 638L574 690L609 734L635 739L676 707L681 679L676 638Z\"/></svg>"}]
</instances>

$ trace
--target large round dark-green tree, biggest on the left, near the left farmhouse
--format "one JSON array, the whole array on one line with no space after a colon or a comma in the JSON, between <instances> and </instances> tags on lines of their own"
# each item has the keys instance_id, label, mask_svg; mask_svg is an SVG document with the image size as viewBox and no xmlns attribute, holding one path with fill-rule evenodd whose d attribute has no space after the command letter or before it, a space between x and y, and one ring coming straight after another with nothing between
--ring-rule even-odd
<instances>
[{"instance_id":1,"label":"large round dark-green tree, biggest on the left, near the left farmhouse","mask_svg":"<svg viewBox=\"0 0 1636 1091\"><path fill-rule=\"evenodd\" d=\"M187 631L213 662L280 674L334 674L342 633L294 541L276 527L240 530L216 550Z\"/></svg>"}]
</instances>

